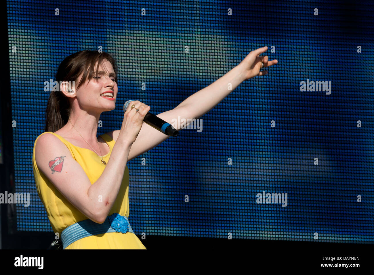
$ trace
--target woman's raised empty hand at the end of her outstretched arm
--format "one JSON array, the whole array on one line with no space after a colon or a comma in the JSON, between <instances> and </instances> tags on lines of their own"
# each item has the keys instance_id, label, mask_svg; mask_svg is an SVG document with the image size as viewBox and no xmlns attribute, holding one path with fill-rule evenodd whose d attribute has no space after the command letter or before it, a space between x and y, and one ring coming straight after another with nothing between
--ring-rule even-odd
<instances>
[{"instance_id":1,"label":"woman's raised empty hand at the end of her outstretched arm","mask_svg":"<svg viewBox=\"0 0 374 275\"><path fill-rule=\"evenodd\" d=\"M269 61L269 57L267 55L260 56L260 54L266 52L266 50L267 46L253 50L243 59L242 62L240 62L238 66L242 68L245 80L255 77L256 75L261 76L267 74L266 70L260 71L261 62L264 63L263 68L267 68L278 63L277 59Z\"/></svg>"}]
</instances>

